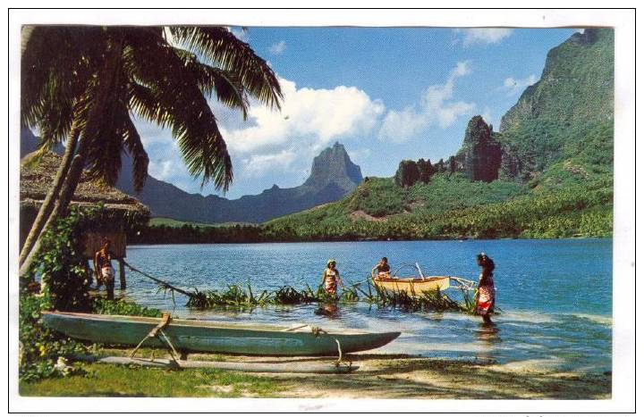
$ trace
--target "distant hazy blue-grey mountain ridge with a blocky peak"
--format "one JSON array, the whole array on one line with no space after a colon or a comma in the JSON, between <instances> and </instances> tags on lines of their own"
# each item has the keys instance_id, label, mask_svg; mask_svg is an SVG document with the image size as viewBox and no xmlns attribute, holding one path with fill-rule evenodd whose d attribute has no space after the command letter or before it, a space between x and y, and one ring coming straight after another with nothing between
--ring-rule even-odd
<instances>
[{"instance_id":1,"label":"distant hazy blue-grey mountain ridge with a blocky peak","mask_svg":"<svg viewBox=\"0 0 644 417\"><path fill-rule=\"evenodd\" d=\"M344 146L336 143L316 156L309 179L301 186L279 188L274 185L256 196L242 196L233 200L213 195L201 196L187 193L153 177L148 177L145 187L137 194L132 187L131 159L127 157L123 158L116 188L139 198L157 217L213 223L262 222L336 201L361 181L360 167L352 163Z\"/></svg>"}]
</instances>

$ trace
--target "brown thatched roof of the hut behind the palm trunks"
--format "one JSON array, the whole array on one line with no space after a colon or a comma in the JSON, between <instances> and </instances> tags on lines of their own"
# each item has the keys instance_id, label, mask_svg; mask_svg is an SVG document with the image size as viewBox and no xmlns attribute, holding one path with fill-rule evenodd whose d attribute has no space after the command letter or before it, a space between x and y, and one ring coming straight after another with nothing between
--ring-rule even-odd
<instances>
[{"instance_id":1,"label":"brown thatched roof of the hut behind the palm trunks","mask_svg":"<svg viewBox=\"0 0 644 417\"><path fill-rule=\"evenodd\" d=\"M44 154L38 162L35 153L27 154L21 160L20 199L21 208L38 207L47 196L47 191L54 182L55 173L61 157L53 152ZM133 196L101 184L97 180L89 180L83 173L80 183L72 198L72 204L103 203L109 211L124 211L142 216L149 215L147 206L141 204Z\"/></svg>"}]
</instances>

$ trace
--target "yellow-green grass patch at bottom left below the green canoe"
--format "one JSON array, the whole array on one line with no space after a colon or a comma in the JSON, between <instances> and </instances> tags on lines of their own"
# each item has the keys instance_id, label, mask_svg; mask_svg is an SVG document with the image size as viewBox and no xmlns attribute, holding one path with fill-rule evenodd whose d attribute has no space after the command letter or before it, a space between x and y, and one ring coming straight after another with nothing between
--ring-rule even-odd
<instances>
[{"instance_id":1,"label":"yellow-green grass patch at bottom left below the green canoe","mask_svg":"<svg viewBox=\"0 0 644 417\"><path fill-rule=\"evenodd\" d=\"M260 396L275 397L275 382L250 373L213 369L171 371L90 363L84 376L21 382L21 396Z\"/></svg>"}]
</instances>

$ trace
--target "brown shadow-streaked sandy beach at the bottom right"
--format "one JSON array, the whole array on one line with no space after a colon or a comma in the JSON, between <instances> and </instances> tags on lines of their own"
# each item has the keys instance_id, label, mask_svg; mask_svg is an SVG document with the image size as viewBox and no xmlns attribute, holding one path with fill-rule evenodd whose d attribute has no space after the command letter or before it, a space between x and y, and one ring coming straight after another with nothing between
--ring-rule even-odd
<instances>
[{"instance_id":1,"label":"brown shadow-streaked sandy beach at the bottom right","mask_svg":"<svg viewBox=\"0 0 644 417\"><path fill-rule=\"evenodd\" d=\"M540 366L541 363L499 365L384 354L354 354L346 359L360 365L360 369L324 378L284 373L271 374L270 378L282 386L280 396L285 397L599 399L611 396L610 374L552 371ZM275 358L240 360L275 361Z\"/></svg>"}]
</instances>

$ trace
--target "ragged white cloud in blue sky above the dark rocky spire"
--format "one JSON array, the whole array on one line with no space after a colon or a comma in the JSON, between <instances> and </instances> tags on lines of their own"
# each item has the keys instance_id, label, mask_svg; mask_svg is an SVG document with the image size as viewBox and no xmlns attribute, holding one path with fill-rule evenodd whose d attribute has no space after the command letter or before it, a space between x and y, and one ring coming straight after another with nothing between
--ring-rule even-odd
<instances>
[{"instance_id":1,"label":"ragged white cloud in blue sky above the dark rocky spire","mask_svg":"<svg viewBox=\"0 0 644 417\"><path fill-rule=\"evenodd\" d=\"M404 142L416 138L430 126L445 129L453 125L460 116L471 113L474 104L462 101L452 102L456 79L470 75L470 61L457 63L445 84L429 86L420 102L402 110L390 110L378 132L379 140Z\"/></svg>"}]
</instances>

